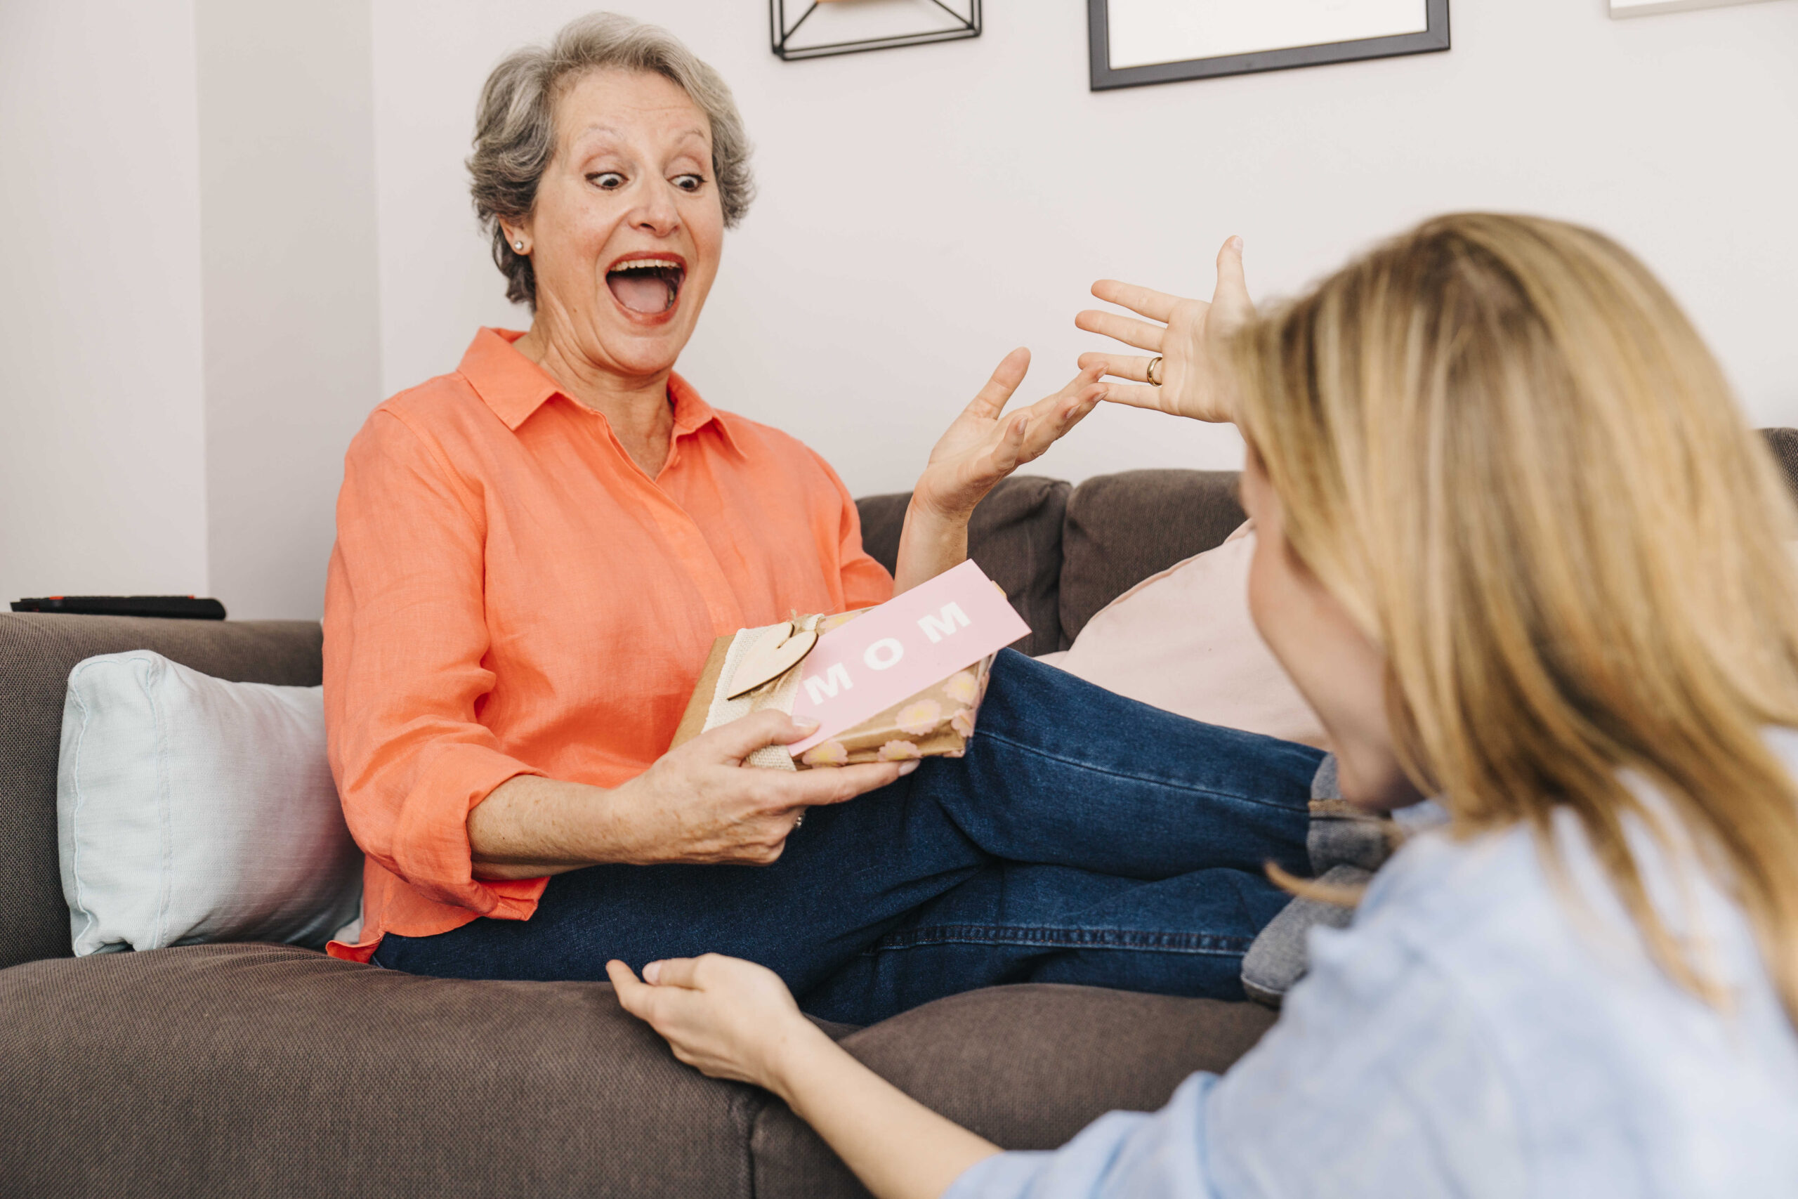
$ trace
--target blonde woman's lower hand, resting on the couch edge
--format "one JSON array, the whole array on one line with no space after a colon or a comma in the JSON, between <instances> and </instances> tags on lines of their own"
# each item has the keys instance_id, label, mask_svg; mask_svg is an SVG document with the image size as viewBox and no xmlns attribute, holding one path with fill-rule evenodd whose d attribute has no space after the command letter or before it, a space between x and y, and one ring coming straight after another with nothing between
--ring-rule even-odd
<instances>
[{"instance_id":1,"label":"blonde woman's lower hand, resting on the couch edge","mask_svg":"<svg viewBox=\"0 0 1798 1199\"><path fill-rule=\"evenodd\" d=\"M712 1079L779 1091L780 1062L797 1041L822 1037L798 1012L773 971L708 953L644 967L636 981L624 962L606 974L619 1003L667 1039L674 1057Z\"/></svg>"}]
</instances>

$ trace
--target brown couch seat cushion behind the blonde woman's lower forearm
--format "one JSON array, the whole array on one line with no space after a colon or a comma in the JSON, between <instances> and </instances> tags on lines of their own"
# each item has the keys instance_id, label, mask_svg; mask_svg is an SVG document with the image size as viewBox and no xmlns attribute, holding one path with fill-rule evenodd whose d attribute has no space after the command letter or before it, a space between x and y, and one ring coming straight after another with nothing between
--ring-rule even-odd
<instances>
[{"instance_id":1,"label":"brown couch seat cushion behind the blonde woman's lower forearm","mask_svg":"<svg viewBox=\"0 0 1798 1199\"><path fill-rule=\"evenodd\" d=\"M1108 1111L1154 1111L1196 1070L1228 1070L1273 1019L1255 1003L1030 983L949 996L841 1043L992 1143L1054 1149ZM779 1100L750 1143L757 1199L868 1194Z\"/></svg>"}]
</instances>

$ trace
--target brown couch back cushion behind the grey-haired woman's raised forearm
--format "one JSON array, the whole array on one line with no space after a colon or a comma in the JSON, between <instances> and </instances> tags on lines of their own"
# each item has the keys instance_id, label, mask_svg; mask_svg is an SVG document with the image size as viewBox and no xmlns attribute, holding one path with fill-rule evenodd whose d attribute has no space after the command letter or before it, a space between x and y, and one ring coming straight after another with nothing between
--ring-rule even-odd
<instances>
[{"instance_id":1,"label":"brown couch back cushion behind the grey-haired woman's raised forearm","mask_svg":"<svg viewBox=\"0 0 1798 1199\"><path fill-rule=\"evenodd\" d=\"M1046 654L1061 645L1061 521L1070 491L1059 478L1014 475L980 502L967 523L967 555L1005 588L1030 626L1030 636L1018 642L1027 654ZM899 559L910 502L912 493L856 500L861 545L886 570Z\"/></svg>"}]
</instances>

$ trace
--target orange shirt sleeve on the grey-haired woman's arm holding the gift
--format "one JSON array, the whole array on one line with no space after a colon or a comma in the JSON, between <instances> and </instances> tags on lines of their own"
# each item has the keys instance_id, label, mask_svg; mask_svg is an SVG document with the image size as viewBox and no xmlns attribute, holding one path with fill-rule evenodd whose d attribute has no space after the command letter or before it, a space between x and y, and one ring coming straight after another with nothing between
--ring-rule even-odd
<instances>
[{"instance_id":1,"label":"orange shirt sleeve on the grey-haired woman's arm holding the gift","mask_svg":"<svg viewBox=\"0 0 1798 1199\"><path fill-rule=\"evenodd\" d=\"M494 676L482 496L378 412L349 448L325 595L325 726L343 814L369 857L475 915L527 919L543 883L473 877L467 813L516 775L478 719Z\"/></svg>"}]
</instances>

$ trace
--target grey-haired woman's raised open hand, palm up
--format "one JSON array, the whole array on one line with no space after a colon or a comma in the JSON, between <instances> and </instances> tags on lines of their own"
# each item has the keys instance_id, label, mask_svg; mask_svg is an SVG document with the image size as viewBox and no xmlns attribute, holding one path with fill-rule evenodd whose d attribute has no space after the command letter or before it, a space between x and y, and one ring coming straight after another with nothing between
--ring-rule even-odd
<instances>
[{"instance_id":1,"label":"grey-haired woman's raised open hand, palm up","mask_svg":"<svg viewBox=\"0 0 1798 1199\"><path fill-rule=\"evenodd\" d=\"M1041 458L1063 433L1079 424L1104 390L1097 367L1081 370L1054 395L1001 419L1005 401L1023 383L1028 367L1030 351L1016 349L1007 354L973 403L937 440L912 491L915 507L928 516L966 521L1001 478L1025 462Z\"/></svg>"}]
</instances>

